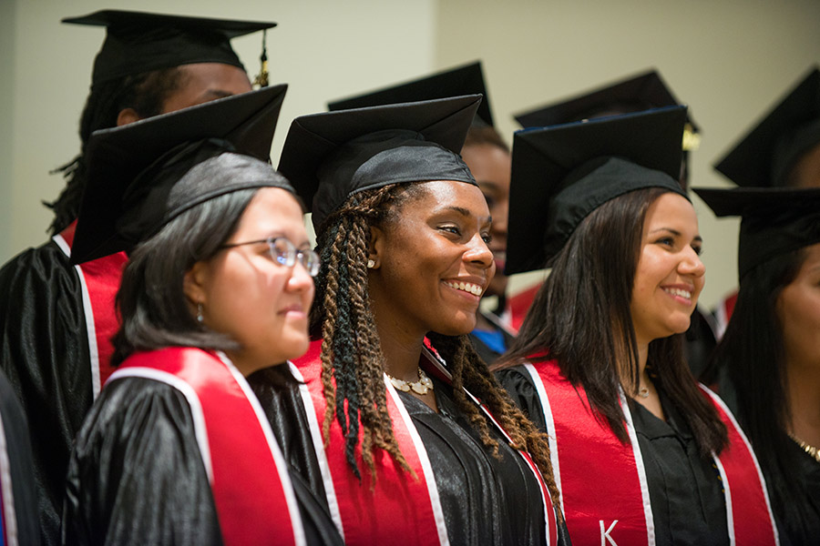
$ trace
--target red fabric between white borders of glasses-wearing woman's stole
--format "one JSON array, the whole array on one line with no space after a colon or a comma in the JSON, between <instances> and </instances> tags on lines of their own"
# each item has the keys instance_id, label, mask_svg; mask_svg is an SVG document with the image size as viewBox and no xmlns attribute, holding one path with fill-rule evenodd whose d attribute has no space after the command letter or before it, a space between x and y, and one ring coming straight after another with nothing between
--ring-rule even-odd
<instances>
[{"instance_id":1,"label":"red fabric between white borders of glasses-wearing woman's stole","mask_svg":"<svg viewBox=\"0 0 820 546\"><path fill-rule=\"evenodd\" d=\"M208 430L211 489L226 546L294 544L280 469L251 402L225 363L200 349L170 348L133 355L121 366L126 367L168 372L196 391Z\"/></svg>"}]
</instances>

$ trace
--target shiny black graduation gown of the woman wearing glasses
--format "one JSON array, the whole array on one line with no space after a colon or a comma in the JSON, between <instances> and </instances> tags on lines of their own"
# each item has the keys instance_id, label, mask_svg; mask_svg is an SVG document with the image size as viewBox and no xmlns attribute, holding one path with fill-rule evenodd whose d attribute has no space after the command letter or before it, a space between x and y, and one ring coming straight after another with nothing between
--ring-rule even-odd
<instances>
[{"instance_id":1,"label":"shiny black graduation gown of the woman wearing glasses","mask_svg":"<svg viewBox=\"0 0 820 546\"><path fill-rule=\"evenodd\" d=\"M341 544L323 501L292 483L308 543ZM66 544L221 544L184 395L139 378L103 389L77 436L65 508Z\"/></svg>"}]
</instances>

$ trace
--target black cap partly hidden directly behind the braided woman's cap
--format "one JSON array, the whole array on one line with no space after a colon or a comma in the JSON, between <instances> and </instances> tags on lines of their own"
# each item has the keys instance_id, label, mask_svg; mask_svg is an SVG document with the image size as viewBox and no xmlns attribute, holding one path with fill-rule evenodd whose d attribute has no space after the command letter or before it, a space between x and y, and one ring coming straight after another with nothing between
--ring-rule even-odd
<instances>
[{"instance_id":1,"label":"black cap partly hidden directly behind the braided woman's cap","mask_svg":"<svg viewBox=\"0 0 820 546\"><path fill-rule=\"evenodd\" d=\"M484 84L484 73L481 70L480 61L364 95L335 100L328 103L327 107L331 111L348 110L462 95L484 96L484 100L478 106L474 123L479 126L493 126L493 114L490 111L487 86Z\"/></svg>"}]
</instances>

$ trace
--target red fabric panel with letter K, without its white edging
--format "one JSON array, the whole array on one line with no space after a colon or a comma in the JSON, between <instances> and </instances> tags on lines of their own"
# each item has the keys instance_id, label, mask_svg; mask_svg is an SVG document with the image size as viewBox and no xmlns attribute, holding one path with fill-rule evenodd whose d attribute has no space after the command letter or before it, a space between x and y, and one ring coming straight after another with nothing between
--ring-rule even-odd
<instances>
[{"instance_id":1,"label":"red fabric panel with letter K, without its white edging","mask_svg":"<svg viewBox=\"0 0 820 546\"><path fill-rule=\"evenodd\" d=\"M631 445L620 443L589 409L584 389L573 388L554 361L534 365L549 397L558 443L564 516L572 541L647 544L641 483Z\"/></svg>"}]
</instances>

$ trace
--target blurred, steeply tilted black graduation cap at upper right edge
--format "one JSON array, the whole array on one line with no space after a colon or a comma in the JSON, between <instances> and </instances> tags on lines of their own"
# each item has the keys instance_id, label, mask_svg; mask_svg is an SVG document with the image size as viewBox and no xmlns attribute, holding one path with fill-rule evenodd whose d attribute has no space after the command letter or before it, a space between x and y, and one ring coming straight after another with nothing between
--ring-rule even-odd
<instances>
[{"instance_id":1,"label":"blurred, steeply tilted black graduation cap at upper right edge","mask_svg":"<svg viewBox=\"0 0 820 546\"><path fill-rule=\"evenodd\" d=\"M820 70L816 67L714 168L738 186L785 186L797 159L820 143Z\"/></svg>"}]
</instances>

